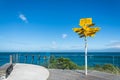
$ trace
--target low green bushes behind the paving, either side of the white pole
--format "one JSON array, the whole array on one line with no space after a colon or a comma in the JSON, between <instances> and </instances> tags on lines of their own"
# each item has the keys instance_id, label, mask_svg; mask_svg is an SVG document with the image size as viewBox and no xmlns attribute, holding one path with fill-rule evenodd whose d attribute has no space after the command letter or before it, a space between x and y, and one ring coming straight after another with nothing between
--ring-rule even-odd
<instances>
[{"instance_id":1,"label":"low green bushes behind the paving, either side of the white pole","mask_svg":"<svg viewBox=\"0 0 120 80\"><path fill-rule=\"evenodd\" d=\"M52 69L70 69L70 70L84 70L84 66L79 66L72 62L69 58L55 58L52 56L50 58L50 64L49 68ZM98 70L113 74L120 74L120 68L117 66L114 66L112 64L104 64L104 65L95 65L94 67L89 67L88 70Z\"/></svg>"}]
</instances>

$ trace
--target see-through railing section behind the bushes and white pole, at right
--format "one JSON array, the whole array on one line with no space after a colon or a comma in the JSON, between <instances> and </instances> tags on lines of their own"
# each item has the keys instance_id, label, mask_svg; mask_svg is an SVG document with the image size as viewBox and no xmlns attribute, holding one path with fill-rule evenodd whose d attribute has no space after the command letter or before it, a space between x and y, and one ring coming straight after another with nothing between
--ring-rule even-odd
<instances>
[{"instance_id":1,"label":"see-through railing section behind the bushes and white pole, at right","mask_svg":"<svg viewBox=\"0 0 120 80\"><path fill-rule=\"evenodd\" d=\"M56 56L59 58L60 56ZM71 61L75 62L80 66L84 66L85 59L84 55L81 56L62 56L65 58L69 58ZM90 56L88 55L88 66L95 65L104 65L104 64L113 64L115 66L120 67L120 56Z\"/></svg>"}]
</instances>

